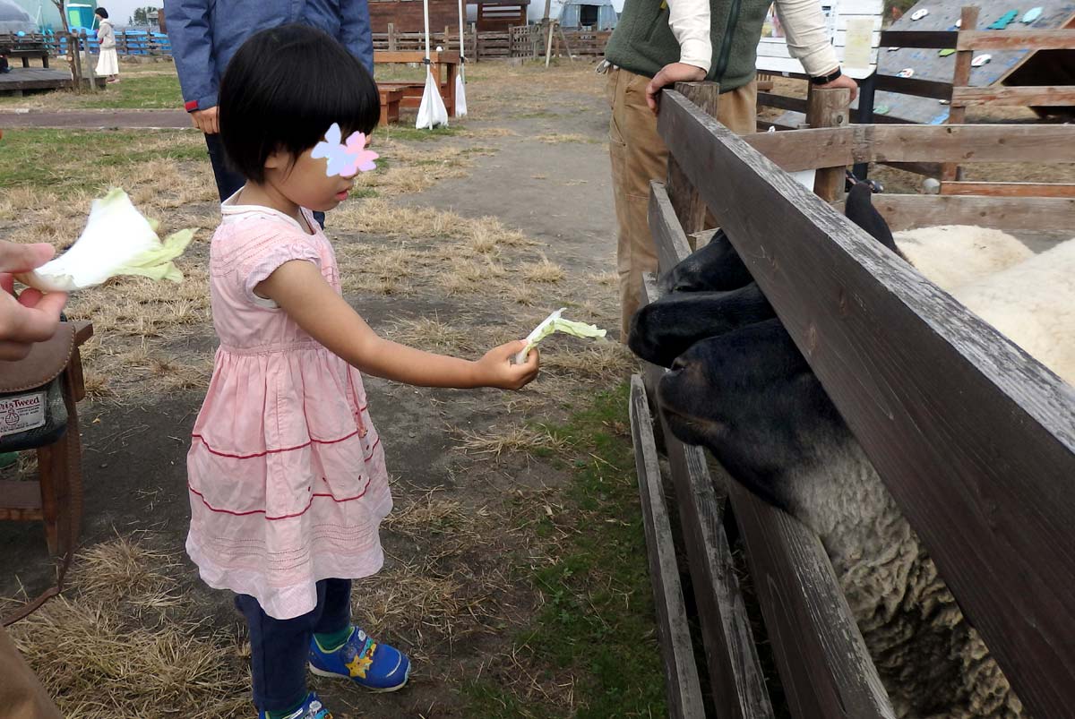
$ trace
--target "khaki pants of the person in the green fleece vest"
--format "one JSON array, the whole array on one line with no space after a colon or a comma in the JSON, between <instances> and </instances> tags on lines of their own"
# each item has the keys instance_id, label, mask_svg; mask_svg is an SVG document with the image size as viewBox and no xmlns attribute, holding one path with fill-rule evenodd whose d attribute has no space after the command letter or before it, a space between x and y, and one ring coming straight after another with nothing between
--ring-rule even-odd
<instances>
[{"instance_id":1,"label":"khaki pants of the person in the green fleece vest","mask_svg":"<svg viewBox=\"0 0 1075 719\"><path fill-rule=\"evenodd\" d=\"M612 189L616 202L621 342L627 342L631 317L642 303L642 274L657 271L657 250L649 233L649 182L664 182L669 152L657 134L657 116L646 104L649 77L622 69L608 72L607 96L612 105L608 154L612 156ZM758 86L751 81L722 92L717 119L732 132L747 134L757 128Z\"/></svg>"}]
</instances>

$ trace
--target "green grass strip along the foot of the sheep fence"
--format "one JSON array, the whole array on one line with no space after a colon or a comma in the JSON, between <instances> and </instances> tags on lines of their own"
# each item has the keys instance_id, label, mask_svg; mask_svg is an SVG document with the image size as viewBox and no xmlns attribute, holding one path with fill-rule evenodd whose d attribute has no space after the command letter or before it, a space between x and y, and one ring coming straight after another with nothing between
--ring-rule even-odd
<instances>
[{"instance_id":1,"label":"green grass strip along the foot of the sheep fence","mask_svg":"<svg viewBox=\"0 0 1075 719\"><path fill-rule=\"evenodd\" d=\"M547 517L569 538L558 561L534 573L517 567L545 596L530 625L516 636L520 653L546 670L577 679L576 709L525 700L492 681L467 688L467 716L664 717L664 671L657 643L653 590L627 416L629 385L598 394L592 404L550 431L570 438L564 457L573 480L561 516ZM519 500L526 501L526 500ZM570 519L564 518L564 514ZM541 531L539 535L546 534ZM548 677L546 677L548 678Z\"/></svg>"}]
</instances>

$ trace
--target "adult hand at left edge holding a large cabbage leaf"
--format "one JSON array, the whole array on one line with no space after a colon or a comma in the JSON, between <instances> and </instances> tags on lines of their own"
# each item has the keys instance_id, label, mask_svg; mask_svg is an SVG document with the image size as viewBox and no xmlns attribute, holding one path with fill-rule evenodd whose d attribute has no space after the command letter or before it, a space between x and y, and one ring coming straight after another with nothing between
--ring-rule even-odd
<instances>
[{"instance_id":1,"label":"adult hand at left edge holding a large cabbage leaf","mask_svg":"<svg viewBox=\"0 0 1075 719\"><path fill-rule=\"evenodd\" d=\"M44 342L56 334L67 293L42 294L35 289L27 289L15 299L12 276L40 268L55 253L47 244L0 242L0 360L20 360L30 354L35 342Z\"/></svg>"}]
</instances>

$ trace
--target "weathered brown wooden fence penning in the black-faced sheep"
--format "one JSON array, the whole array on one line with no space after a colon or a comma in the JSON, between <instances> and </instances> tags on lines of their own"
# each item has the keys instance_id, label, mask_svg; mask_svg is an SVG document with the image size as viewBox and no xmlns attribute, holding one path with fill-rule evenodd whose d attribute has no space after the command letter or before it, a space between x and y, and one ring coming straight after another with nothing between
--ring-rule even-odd
<instances>
[{"instance_id":1,"label":"weathered brown wooden fence penning in the black-faced sheep","mask_svg":"<svg viewBox=\"0 0 1075 719\"><path fill-rule=\"evenodd\" d=\"M838 196L843 186L831 177L857 162L1072 162L1075 127L866 125L737 138L682 94L715 113L715 87L676 89L664 91L658 118L672 156L669 181L654 183L649 210L660 270L689 251L704 216L698 210L707 207L1029 714L1069 716L1075 392L787 172L815 170L817 189ZM846 113L841 119L846 125ZM1056 197L882 195L875 204L893 230L940 220L1066 238L1075 226L1075 200ZM656 298L653 277L647 292ZM645 384L662 372L648 366ZM641 380L632 385L631 415L670 715L708 714L673 551L678 523L715 716L774 716L729 549L732 531L744 542L790 714L891 717L818 538L730 477L721 504L702 451L668 432L675 500L665 504Z\"/></svg>"}]
</instances>

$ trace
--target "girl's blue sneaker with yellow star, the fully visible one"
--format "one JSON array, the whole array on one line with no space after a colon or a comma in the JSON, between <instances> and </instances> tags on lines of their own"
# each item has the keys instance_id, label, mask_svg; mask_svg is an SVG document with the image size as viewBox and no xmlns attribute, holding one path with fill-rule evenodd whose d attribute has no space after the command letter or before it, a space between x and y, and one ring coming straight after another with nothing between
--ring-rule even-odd
<instances>
[{"instance_id":1,"label":"girl's blue sneaker with yellow star, the fully visible one","mask_svg":"<svg viewBox=\"0 0 1075 719\"><path fill-rule=\"evenodd\" d=\"M370 691L396 691L411 676L411 660L353 627L350 636L334 651L325 651L316 637L311 639L310 671L322 677L348 678Z\"/></svg>"}]
</instances>

